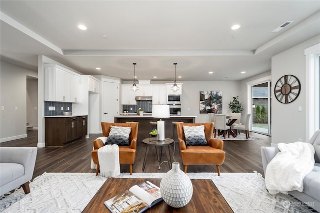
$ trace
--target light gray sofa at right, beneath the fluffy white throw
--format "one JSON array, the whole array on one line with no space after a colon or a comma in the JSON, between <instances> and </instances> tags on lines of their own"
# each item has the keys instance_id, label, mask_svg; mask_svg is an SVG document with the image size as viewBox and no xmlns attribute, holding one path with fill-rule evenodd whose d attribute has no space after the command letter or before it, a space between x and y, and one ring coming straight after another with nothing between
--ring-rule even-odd
<instances>
[{"instance_id":1,"label":"light gray sofa at right, beneath the fluffy white throw","mask_svg":"<svg viewBox=\"0 0 320 213\"><path fill-rule=\"evenodd\" d=\"M304 202L314 210L320 212L320 130L317 130L308 142L315 150L313 170L303 179L303 191L288 192L299 201ZM267 164L278 153L277 147L261 147L261 158L263 172L265 173Z\"/></svg>"}]
</instances>

